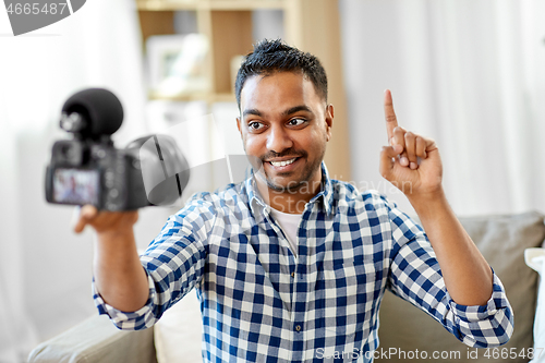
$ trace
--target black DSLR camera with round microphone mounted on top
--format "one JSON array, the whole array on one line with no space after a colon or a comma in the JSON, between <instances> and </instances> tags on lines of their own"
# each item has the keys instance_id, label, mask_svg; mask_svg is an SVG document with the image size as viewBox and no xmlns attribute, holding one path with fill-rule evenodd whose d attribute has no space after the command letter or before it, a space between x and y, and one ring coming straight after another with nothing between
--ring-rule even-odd
<instances>
[{"instance_id":1,"label":"black DSLR camera with round microphone mounted on top","mask_svg":"<svg viewBox=\"0 0 545 363\"><path fill-rule=\"evenodd\" d=\"M71 138L53 144L46 169L46 199L132 210L174 203L190 178L187 161L169 135L154 134L113 146L123 108L111 92L89 88L62 107L60 126Z\"/></svg>"}]
</instances>

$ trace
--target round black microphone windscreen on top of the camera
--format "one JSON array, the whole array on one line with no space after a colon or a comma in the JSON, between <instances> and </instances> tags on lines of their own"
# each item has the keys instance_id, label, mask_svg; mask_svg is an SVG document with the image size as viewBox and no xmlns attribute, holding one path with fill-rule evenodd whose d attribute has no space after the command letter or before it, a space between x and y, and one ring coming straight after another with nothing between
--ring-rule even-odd
<instances>
[{"instance_id":1,"label":"round black microphone windscreen on top of the camera","mask_svg":"<svg viewBox=\"0 0 545 363\"><path fill-rule=\"evenodd\" d=\"M63 113L80 113L87 125L82 133L90 137L111 135L123 122L123 107L114 94L104 88L88 88L72 95Z\"/></svg>"}]
</instances>

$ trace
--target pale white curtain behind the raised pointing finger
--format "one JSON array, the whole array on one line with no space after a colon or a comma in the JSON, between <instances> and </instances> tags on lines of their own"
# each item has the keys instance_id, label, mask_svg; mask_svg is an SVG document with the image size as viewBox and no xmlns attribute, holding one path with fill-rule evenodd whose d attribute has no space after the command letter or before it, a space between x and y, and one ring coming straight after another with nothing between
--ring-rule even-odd
<instances>
[{"instance_id":1,"label":"pale white curtain behind the raised pointing finger","mask_svg":"<svg viewBox=\"0 0 545 363\"><path fill-rule=\"evenodd\" d=\"M434 138L458 214L545 211L545 2L341 0L355 183L411 211L378 174L382 97Z\"/></svg>"}]
</instances>

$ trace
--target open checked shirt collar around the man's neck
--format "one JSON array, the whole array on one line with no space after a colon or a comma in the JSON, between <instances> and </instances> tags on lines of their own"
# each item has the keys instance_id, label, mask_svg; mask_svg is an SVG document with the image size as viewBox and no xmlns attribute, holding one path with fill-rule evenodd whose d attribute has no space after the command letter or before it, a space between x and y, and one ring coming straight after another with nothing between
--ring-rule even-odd
<instances>
[{"instance_id":1,"label":"open checked shirt collar around the man's neck","mask_svg":"<svg viewBox=\"0 0 545 363\"><path fill-rule=\"evenodd\" d=\"M259 194L259 191L257 190L252 167L250 167L246 171L246 180L244 181L244 186L246 189L247 198L250 201L250 208L256 217L256 220L262 219L257 216L268 215L270 206L265 203ZM308 203L320 204L326 215L330 215L332 211L334 189L331 180L329 179L329 172L327 171L324 161L322 161L322 190L315 196L313 196Z\"/></svg>"}]
</instances>

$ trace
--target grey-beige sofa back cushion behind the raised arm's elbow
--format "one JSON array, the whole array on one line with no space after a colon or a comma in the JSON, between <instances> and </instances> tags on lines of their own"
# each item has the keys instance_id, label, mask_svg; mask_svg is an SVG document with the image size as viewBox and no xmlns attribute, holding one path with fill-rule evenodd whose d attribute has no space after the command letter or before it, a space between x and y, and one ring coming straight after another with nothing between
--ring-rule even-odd
<instances>
[{"instance_id":1,"label":"grey-beige sofa back cushion behind the raised arm's elbow","mask_svg":"<svg viewBox=\"0 0 545 363\"><path fill-rule=\"evenodd\" d=\"M526 350L532 348L537 274L525 265L524 250L541 246L543 243L545 239L543 218L544 216L538 213L460 218L481 253L504 283L513 308L514 331L510 341L496 350L496 354L499 354L497 359L493 359L495 356L492 355L493 350L488 350L491 356L487 358L484 355L486 349L476 350L464 346L431 316L390 292L386 292L380 306L379 350L397 349L407 352L407 359L402 359L403 355L401 359L390 356L390 360L393 359L396 362L419 361L409 358L416 349L419 352L426 351L427 360L422 361L427 362L434 351L445 356L450 355L447 360L441 359L445 362L528 362L529 359L525 356L501 359L501 352L511 354L510 349L514 348L518 353L526 353ZM473 355L468 356L469 353ZM473 359L474 354L479 358ZM385 361L387 360L375 360L375 362Z\"/></svg>"}]
</instances>

